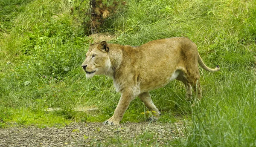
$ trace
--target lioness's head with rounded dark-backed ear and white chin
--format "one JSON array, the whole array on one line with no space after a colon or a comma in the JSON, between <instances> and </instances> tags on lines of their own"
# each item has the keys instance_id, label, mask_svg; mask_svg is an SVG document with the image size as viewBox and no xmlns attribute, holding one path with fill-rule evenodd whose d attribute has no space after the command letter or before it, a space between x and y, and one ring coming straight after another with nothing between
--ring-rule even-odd
<instances>
[{"instance_id":1,"label":"lioness's head with rounded dark-backed ear and white chin","mask_svg":"<svg viewBox=\"0 0 256 147\"><path fill-rule=\"evenodd\" d=\"M108 56L109 48L106 41L90 44L82 67L86 72L86 78L94 75L106 75L111 68L111 61Z\"/></svg>"}]
</instances>

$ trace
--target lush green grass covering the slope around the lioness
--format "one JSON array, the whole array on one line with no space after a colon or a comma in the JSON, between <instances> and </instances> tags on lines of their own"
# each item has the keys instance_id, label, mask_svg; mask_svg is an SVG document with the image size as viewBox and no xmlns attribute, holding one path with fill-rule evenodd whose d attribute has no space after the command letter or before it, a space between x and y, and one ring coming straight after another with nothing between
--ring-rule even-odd
<instances>
[{"instance_id":1,"label":"lush green grass covering the slope around the lioness","mask_svg":"<svg viewBox=\"0 0 256 147\"><path fill-rule=\"evenodd\" d=\"M85 78L80 65L91 38L84 35L81 9L70 13L70 7L76 8L80 1L70 2L0 0L0 127L102 122L113 115L120 94L108 77ZM80 7L86 9L85 4ZM151 91L163 114L160 122L180 117L192 122L185 137L169 144L256 146L255 6L253 0L127 0L125 8L105 22L102 32L119 35L112 43L138 46L160 38L189 37L209 67L220 65L220 72L200 69L203 100L195 107L186 102L179 81ZM44 111L51 107L62 111ZM76 107L98 110L77 112ZM145 121L140 115L145 110L135 99L122 122ZM133 144L124 138L108 143L159 146L154 141Z\"/></svg>"}]
</instances>

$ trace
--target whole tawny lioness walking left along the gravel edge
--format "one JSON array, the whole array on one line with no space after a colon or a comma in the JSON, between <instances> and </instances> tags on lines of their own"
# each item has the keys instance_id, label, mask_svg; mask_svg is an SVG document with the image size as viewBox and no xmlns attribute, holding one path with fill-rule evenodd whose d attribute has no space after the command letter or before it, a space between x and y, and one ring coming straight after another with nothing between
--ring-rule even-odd
<instances>
[{"instance_id":1,"label":"whole tawny lioness walking left along the gravel edge","mask_svg":"<svg viewBox=\"0 0 256 147\"><path fill-rule=\"evenodd\" d=\"M198 54L197 46L186 37L153 40L141 46L108 44L106 41L90 44L82 67L86 77L108 75L113 78L121 98L111 118L104 124L116 125L122 120L130 102L137 96L146 107L155 112L149 120L156 121L160 112L151 100L149 91L165 86L174 79L182 81L186 98L192 99L192 88L199 100L202 97L199 82L199 65L208 72Z\"/></svg>"}]
</instances>

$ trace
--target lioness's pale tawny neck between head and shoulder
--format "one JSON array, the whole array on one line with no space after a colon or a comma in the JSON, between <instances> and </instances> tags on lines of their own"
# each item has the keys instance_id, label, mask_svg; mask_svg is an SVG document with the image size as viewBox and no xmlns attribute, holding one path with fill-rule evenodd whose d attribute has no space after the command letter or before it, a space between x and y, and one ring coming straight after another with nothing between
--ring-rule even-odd
<instances>
[{"instance_id":1,"label":"lioness's pale tawny neck between head and shoulder","mask_svg":"<svg viewBox=\"0 0 256 147\"><path fill-rule=\"evenodd\" d=\"M115 78L116 71L119 69L121 63L122 63L122 49L115 48L111 49L108 52L109 59L111 61L111 68L109 69L107 75L111 78Z\"/></svg>"}]
</instances>

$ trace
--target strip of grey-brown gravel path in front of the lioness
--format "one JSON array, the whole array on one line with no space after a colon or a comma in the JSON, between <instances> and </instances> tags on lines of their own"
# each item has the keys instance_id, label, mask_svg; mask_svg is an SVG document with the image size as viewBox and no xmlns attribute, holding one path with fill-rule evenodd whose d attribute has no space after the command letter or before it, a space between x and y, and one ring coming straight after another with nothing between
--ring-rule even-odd
<instances>
[{"instance_id":1,"label":"strip of grey-brown gravel path in front of the lioness","mask_svg":"<svg viewBox=\"0 0 256 147\"><path fill-rule=\"evenodd\" d=\"M138 139L150 139L157 144L183 136L183 123L125 123L120 126L104 126L102 123L73 123L63 128L11 127L0 129L0 147L90 147L101 144L110 146L111 139L136 143ZM151 138L145 138L145 132ZM153 136L153 137L152 137ZM113 142L113 141L112 141ZM115 146L111 144L111 146ZM118 146L118 145L116 145ZM120 144L119 144L120 146Z\"/></svg>"}]
</instances>

